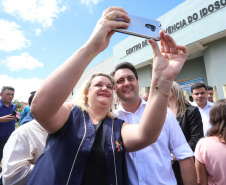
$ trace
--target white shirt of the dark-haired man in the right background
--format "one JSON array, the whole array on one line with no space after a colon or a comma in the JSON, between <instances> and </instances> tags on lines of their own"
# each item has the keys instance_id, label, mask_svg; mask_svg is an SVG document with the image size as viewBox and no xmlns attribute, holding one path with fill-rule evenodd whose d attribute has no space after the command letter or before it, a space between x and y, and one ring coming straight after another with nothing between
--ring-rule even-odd
<instances>
[{"instance_id":1,"label":"white shirt of the dark-haired man in the right background","mask_svg":"<svg viewBox=\"0 0 226 185\"><path fill-rule=\"evenodd\" d=\"M202 117L203 133L204 133L204 136L206 136L207 131L212 127L210 122L209 122L209 120L210 120L209 114L210 114L210 110L211 110L211 108L213 107L214 104L207 101L206 106L202 109L201 107L199 107L197 105L197 103L195 101L190 102L190 103L191 103L191 105L196 106L199 109L199 112L200 112L201 117Z\"/></svg>"}]
</instances>

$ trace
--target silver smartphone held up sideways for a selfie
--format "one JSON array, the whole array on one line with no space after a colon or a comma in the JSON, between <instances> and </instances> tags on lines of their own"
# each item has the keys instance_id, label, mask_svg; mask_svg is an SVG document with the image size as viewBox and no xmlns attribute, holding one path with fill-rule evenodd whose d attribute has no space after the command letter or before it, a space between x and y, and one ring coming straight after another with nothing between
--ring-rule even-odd
<instances>
[{"instance_id":1,"label":"silver smartphone held up sideways for a selfie","mask_svg":"<svg viewBox=\"0 0 226 185\"><path fill-rule=\"evenodd\" d=\"M157 20L147 19L128 14L130 20L129 27L113 29L113 31L138 36L146 39L160 40L159 31L161 23ZM116 21L124 21L122 18L116 18Z\"/></svg>"}]
</instances>

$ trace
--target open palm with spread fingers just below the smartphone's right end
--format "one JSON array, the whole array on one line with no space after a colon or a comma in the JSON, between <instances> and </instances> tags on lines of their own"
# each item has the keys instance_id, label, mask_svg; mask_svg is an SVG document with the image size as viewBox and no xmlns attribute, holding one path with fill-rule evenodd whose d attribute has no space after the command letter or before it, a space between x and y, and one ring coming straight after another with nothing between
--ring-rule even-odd
<instances>
[{"instance_id":1,"label":"open palm with spread fingers just below the smartphone's right end","mask_svg":"<svg viewBox=\"0 0 226 185\"><path fill-rule=\"evenodd\" d=\"M153 49L153 73L157 78L173 81L181 71L188 55L185 46L179 46L174 39L160 31L160 50L154 40L149 39Z\"/></svg>"}]
</instances>

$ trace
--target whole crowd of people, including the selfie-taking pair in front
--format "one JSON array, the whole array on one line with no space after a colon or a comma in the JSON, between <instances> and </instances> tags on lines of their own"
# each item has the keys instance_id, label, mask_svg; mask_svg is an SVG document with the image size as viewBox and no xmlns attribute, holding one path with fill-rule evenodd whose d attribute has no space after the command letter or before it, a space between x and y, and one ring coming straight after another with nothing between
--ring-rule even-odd
<instances>
[{"instance_id":1,"label":"whole crowd of people, including the selfie-taking pair in front","mask_svg":"<svg viewBox=\"0 0 226 185\"><path fill-rule=\"evenodd\" d=\"M137 71L123 62L110 75L94 74L73 102L65 102L89 63L108 46L112 29L127 28L129 21L123 8L105 10L88 41L31 93L16 130L15 90L2 88L4 185L226 182L226 100L211 103L203 83L192 85L193 102L185 99L174 80L188 51L163 30L160 47L148 40L154 55L149 93L139 95Z\"/></svg>"}]
</instances>

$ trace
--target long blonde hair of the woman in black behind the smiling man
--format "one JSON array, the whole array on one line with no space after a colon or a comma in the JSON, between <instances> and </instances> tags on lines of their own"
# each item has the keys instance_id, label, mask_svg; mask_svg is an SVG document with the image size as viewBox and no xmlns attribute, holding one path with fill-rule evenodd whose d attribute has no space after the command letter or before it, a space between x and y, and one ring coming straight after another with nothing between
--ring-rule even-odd
<instances>
[{"instance_id":1,"label":"long blonde hair of the woman in black behind the smiling man","mask_svg":"<svg viewBox=\"0 0 226 185\"><path fill-rule=\"evenodd\" d=\"M173 96L176 100L177 115L176 117L182 117L186 111L186 105L191 105L185 98L184 92L178 83L173 82L172 87Z\"/></svg>"}]
</instances>

